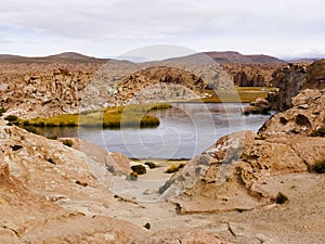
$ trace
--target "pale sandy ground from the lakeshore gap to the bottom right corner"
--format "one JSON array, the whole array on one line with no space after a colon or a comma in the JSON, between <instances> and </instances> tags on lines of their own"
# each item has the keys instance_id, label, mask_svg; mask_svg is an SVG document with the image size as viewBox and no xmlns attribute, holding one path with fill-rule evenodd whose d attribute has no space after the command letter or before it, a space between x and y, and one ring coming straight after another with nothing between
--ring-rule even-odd
<instances>
[{"instance_id":1,"label":"pale sandy ground from the lakeshore gap to the bottom right corner","mask_svg":"<svg viewBox=\"0 0 325 244\"><path fill-rule=\"evenodd\" d=\"M148 160L140 160L144 163ZM185 162L161 162L148 169L130 185L114 189L118 205L102 206L95 203L62 202L61 205L87 215L104 215L144 226L151 223L151 233L167 229L194 228L221 236L233 243L325 243L325 175L289 174L274 177L266 188L282 191L289 201L249 211L178 215L170 201L155 198L154 190L171 175L164 171L169 165ZM139 162L138 162L139 163ZM145 190L153 190L148 195ZM119 206L119 207L116 207Z\"/></svg>"}]
</instances>

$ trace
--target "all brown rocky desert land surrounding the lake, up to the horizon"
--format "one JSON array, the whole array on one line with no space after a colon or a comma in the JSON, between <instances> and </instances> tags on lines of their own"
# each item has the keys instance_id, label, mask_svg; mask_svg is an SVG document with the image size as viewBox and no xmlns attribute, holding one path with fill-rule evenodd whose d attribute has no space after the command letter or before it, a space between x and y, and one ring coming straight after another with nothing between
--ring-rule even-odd
<instances>
[{"instance_id":1,"label":"all brown rocky desert land surrounding the lake, up to the horizon","mask_svg":"<svg viewBox=\"0 0 325 244\"><path fill-rule=\"evenodd\" d=\"M325 243L325 61L204 55L143 64L0 55L0 243ZM276 87L262 99L277 113L190 160L151 158L155 168L13 123L237 87Z\"/></svg>"}]
</instances>

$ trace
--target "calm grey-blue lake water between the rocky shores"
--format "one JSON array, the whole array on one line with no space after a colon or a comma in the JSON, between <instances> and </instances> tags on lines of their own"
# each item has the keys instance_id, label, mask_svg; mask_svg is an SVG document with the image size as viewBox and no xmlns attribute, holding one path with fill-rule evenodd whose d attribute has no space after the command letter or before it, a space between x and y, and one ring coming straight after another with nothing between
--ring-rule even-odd
<instances>
[{"instance_id":1,"label":"calm grey-blue lake water between the rocky shores","mask_svg":"<svg viewBox=\"0 0 325 244\"><path fill-rule=\"evenodd\" d=\"M151 112L157 128L90 129L47 128L44 136L77 137L130 158L193 158L219 138L239 130L257 131L270 115L242 115L239 103L174 103L166 111Z\"/></svg>"}]
</instances>

